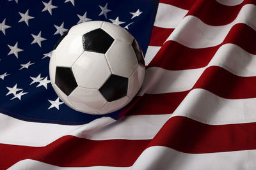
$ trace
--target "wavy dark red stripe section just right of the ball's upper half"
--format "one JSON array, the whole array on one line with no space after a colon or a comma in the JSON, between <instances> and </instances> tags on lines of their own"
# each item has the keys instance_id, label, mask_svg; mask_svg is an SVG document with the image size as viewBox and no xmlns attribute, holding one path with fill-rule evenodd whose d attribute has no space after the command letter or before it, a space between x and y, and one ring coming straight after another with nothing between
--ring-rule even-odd
<instances>
[{"instance_id":1,"label":"wavy dark red stripe section just right of the ball's upper half","mask_svg":"<svg viewBox=\"0 0 256 170\"><path fill-rule=\"evenodd\" d=\"M167 41L160 48L148 67L162 67L168 70L195 69L207 66L220 46L210 48L189 48L176 41Z\"/></svg>"}]
</instances>

